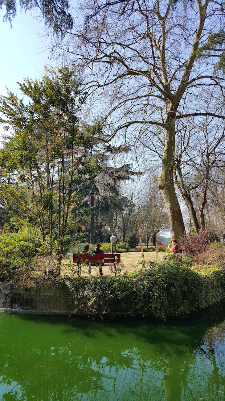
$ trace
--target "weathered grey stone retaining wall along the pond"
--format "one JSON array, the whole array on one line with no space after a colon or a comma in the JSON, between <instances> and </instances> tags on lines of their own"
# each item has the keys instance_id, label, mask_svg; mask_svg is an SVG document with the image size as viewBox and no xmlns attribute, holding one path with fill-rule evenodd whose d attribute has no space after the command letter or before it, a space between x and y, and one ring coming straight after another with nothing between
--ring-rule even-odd
<instances>
[{"instance_id":1,"label":"weathered grey stone retaining wall along the pond","mask_svg":"<svg viewBox=\"0 0 225 401\"><path fill-rule=\"evenodd\" d=\"M66 286L24 288L0 282L0 311L71 314L74 305Z\"/></svg>"}]
</instances>

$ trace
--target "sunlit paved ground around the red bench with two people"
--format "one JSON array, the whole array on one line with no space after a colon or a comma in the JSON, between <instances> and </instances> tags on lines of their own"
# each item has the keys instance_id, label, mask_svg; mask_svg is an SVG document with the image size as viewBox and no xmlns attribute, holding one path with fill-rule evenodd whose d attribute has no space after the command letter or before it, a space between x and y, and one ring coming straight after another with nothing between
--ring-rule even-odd
<instances>
[{"instance_id":1,"label":"sunlit paved ground around the red bench with two people","mask_svg":"<svg viewBox=\"0 0 225 401\"><path fill-rule=\"evenodd\" d=\"M159 252L158 253L158 260L161 260L163 258L163 256L165 255L164 252ZM145 257L145 261L148 260L156 260L156 253L155 252L144 252L144 257ZM124 267L122 270L122 273L125 271L128 271L129 273L131 273L132 271L135 271L136 269L140 269L141 266L138 265L138 262L142 261L142 255L141 252L125 252L125 253L121 253L121 262L123 262ZM62 262L62 271L64 269L67 269L69 263L72 263L72 258L70 259L70 261L66 261L64 260ZM87 268L83 269L83 271L81 271L82 274L88 274ZM110 271L109 267L102 267L102 273L105 275L110 275L112 274L112 272ZM91 275L98 275L98 268L95 266L92 266L91 269Z\"/></svg>"}]
</instances>

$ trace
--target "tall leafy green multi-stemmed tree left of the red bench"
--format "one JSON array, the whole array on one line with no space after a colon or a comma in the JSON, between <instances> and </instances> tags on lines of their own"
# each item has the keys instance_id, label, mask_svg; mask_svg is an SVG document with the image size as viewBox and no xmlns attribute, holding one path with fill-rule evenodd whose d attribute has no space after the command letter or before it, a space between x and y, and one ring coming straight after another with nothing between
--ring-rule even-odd
<instances>
[{"instance_id":1,"label":"tall leafy green multi-stemmed tree left of the red bench","mask_svg":"<svg viewBox=\"0 0 225 401\"><path fill-rule=\"evenodd\" d=\"M8 206L10 196L12 205L20 205L18 218L38 224L43 242L48 234L60 269L68 229L76 224L70 209L81 202L85 177L92 177L99 166L86 156L90 138L79 128L78 113L85 98L68 67L47 70L41 81L27 78L19 86L28 104L10 91L0 100L6 116L1 122L14 129L1 151L8 152L8 166L16 176L5 196Z\"/></svg>"}]
</instances>

